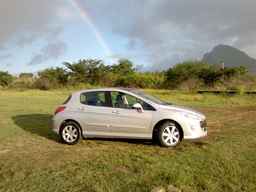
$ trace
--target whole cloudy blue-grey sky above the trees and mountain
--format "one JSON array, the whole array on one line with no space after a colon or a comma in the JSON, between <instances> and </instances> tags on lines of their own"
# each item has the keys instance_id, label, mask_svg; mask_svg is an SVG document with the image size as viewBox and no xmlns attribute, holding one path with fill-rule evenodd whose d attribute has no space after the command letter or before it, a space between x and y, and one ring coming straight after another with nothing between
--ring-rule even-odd
<instances>
[{"instance_id":1,"label":"whole cloudy blue-grey sky above the trees and mountain","mask_svg":"<svg viewBox=\"0 0 256 192\"><path fill-rule=\"evenodd\" d=\"M0 71L37 76L79 59L162 71L219 44L256 59L255 10L255 0L0 0Z\"/></svg>"}]
</instances>

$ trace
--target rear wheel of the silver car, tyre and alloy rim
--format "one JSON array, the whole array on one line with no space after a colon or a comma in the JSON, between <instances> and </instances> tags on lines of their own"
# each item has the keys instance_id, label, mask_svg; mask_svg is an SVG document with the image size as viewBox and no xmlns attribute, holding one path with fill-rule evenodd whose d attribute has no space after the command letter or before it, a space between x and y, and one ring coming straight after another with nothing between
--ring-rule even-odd
<instances>
[{"instance_id":1,"label":"rear wheel of the silver car, tyre and alloy rim","mask_svg":"<svg viewBox=\"0 0 256 192\"><path fill-rule=\"evenodd\" d=\"M60 128L60 138L68 145L75 145L82 140L81 129L74 122L64 123Z\"/></svg>"}]
</instances>

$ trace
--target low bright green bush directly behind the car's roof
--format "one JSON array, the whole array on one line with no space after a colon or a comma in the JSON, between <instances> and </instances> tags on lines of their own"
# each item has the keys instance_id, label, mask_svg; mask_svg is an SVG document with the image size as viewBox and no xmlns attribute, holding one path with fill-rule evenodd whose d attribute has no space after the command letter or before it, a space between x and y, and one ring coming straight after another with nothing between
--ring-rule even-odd
<instances>
[{"instance_id":1,"label":"low bright green bush directly behind the car's roof","mask_svg":"<svg viewBox=\"0 0 256 192\"><path fill-rule=\"evenodd\" d=\"M148 76L145 74L120 76L116 80L116 85L130 88L158 88L162 87L163 84L163 78L157 76Z\"/></svg>"}]
</instances>

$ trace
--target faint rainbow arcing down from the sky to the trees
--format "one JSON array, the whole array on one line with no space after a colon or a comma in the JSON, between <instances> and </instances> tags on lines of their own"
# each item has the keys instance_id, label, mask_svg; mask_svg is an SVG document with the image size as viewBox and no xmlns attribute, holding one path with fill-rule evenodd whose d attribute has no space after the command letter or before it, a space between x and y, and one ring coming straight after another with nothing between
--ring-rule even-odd
<instances>
[{"instance_id":1,"label":"faint rainbow arcing down from the sky to the trees","mask_svg":"<svg viewBox=\"0 0 256 192\"><path fill-rule=\"evenodd\" d=\"M108 57L111 60L111 64L115 63L115 59L108 47L108 44L104 40L103 36L100 34L100 31L97 29L97 27L93 24L92 20L89 18L89 16L86 14L86 12L79 6L79 4L76 2L76 0L68 0L68 2L78 11L78 13L81 15L81 17L85 20L87 25L92 29L94 35L97 37L98 41L100 42L102 48L107 53Z\"/></svg>"}]
</instances>

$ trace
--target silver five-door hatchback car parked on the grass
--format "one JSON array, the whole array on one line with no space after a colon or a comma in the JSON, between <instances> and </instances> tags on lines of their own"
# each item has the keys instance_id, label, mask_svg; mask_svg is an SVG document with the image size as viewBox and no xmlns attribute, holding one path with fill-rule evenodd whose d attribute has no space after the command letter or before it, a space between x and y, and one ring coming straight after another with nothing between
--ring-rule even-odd
<instances>
[{"instance_id":1,"label":"silver five-door hatchback car parked on the grass","mask_svg":"<svg viewBox=\"0 0 256 192\"><path fill-rule=\"evenodd\" d=\"M206 136L206 117L191 108L126 88L72 92L53 116L53 132L69 145L82 137L155 139L163 147Z\"/></svg>"}]
</instances>

